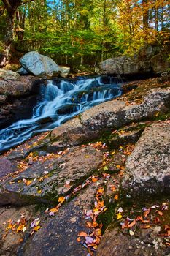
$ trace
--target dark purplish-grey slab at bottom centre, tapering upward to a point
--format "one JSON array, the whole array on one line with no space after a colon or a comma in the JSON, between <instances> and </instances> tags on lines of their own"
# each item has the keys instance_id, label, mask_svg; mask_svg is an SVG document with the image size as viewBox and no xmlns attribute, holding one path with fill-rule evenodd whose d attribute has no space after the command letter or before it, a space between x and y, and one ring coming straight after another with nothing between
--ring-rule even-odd
<instances>
[{"instance_id":1,"label":"dark purplish-grey slab at bottom centre, tapering upward to a point","mask_svg":"<svg viewBox=\"0 0 170 256\"><path fill-rule=\"evenodd\" d=\"M18 256L84 256L88 254L82 244L77 242L80 231L88 233L85 227L85 210L90 210L95 199L96 184L81 192L63 208L55 217L50 217L39 232L28 238L18 251Z\"/></svg>"}]
</instances>

